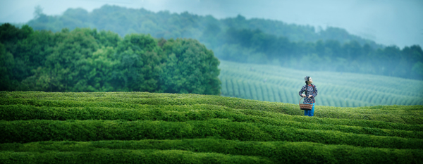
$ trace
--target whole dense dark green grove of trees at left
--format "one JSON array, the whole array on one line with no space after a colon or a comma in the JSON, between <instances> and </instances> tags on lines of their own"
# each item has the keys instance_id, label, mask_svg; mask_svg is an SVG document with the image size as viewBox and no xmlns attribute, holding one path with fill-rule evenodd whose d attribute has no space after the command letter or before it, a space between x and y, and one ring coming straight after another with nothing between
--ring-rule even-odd
<instances>
[{"instance_id":1,"label":"whole dense dark green grove of trees at left","mask_svg":"<svg viewBox=\"0 0 423 164\"><path fill-rule=\"evenodd\" d=\"M0 26L0 90L220 94L219 61L195 39Z\"/></svg>"}]
</instances>

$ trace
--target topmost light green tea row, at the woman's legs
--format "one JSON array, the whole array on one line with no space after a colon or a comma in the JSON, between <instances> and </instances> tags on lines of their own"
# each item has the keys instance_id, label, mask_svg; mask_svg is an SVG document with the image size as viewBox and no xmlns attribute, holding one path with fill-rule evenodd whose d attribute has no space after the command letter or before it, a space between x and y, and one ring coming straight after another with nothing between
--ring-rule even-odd
<instances>
[{"instance_id":1,"label":"topmost light green tea row, at the woman's legs","mask_svg":"<svg viewBox=\"0 0 423 164\"><path fill-rule=\"evenodd\" d=\"M1 92L0 105L31 105L51 107L109 107L109 108L140 108L140 105L195 105L209 104L226 106L235 109L250 109L284 113L288 115L303 115L298 110L298 104L272 103L267 101L227 98L222 96L200 96L196 94L151 94L151 93L50 93L50 92ZM42 99L39 99L42 98ZM422 106L373 106L360 108L336 108L317 106L319 112L315 115L321 118L343 118L358 120L381 120L412 125L421 124L419 117ZM400 110L398 110L400 109ZM314 118L313 118L314 119Z\"/></svg>"}]
</instances>

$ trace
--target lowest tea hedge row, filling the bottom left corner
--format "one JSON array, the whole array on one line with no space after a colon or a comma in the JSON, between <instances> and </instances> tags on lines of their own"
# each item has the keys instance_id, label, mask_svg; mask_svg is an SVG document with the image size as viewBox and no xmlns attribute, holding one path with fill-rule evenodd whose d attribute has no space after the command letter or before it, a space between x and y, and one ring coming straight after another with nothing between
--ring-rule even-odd
<instances>
[{"instance_id":1,"label":"lowest tea hedge row, filling the bottom left corner","mask_svg":"<svg viewBox=\"0 0 423 164\"><path fill-rule=\"evenodd\" d=\"M7 158L6 158L7 157ZM181 150L43 151L0 153L4 163L272 163L267 158Z\"/></svg>"}]
</instances>

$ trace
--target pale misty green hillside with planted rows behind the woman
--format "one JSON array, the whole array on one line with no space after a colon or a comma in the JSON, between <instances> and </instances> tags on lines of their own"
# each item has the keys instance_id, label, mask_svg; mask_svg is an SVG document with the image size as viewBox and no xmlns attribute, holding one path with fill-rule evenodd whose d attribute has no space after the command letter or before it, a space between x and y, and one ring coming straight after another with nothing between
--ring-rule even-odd
<instances>
[{"instance_id":1,"label":"pale misty green hillside with planted rows behind the woman","mask_svg":"<svg viewBox=\"0 0 423 164\"><path fill-rule=\"evenodd\" d=\"M423 81L357 73L304 71L221 61L221 95L297 103L304 77L313 78L317 106L423 105Z\"/></svg>"}]
</instances>

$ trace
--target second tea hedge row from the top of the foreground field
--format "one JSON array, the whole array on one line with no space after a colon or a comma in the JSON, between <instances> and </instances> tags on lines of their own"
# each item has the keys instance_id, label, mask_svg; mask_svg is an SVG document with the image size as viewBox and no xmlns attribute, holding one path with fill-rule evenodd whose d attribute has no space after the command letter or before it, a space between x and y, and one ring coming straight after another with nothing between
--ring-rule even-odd
<instances>
[{"instance_id":1,"label":"second tea hedge row from the top of the foreground field","mask_svg":"<svg viewBox=\"0 0 423 164\"><path fill-rule=\"evenodd\" d=\"M190 120L212 120L215 118L230 119L233 122L261 123L266 125L277 125L283 127L295 127L309 130L336 130L340 132L353 132L355 134L372 134L376 136L391 136L404 138L423 138L423 126L403 125L388 123L389 126L366 125L343 125L331 120L322 120L319 123L312 123L306 120L278 119L262 117L272 113L261 111L251 113L249 110L234 110L222 106L194 105L194 106L142 106L141 108L106 108L106 107L85 107L85 108L58 108L58 107L34 107L24 105L0 106L1 120L164 120L170 122L186 122ZM261 115L260 115L261 114ZM321 125L324 123L326 125ZM331 123L331 124L329 124ZM397 125L395 129L390 128ZM398 126L400 125L400 126ZM418 130L422 132L412 132Z\"/></svg>"}]
</instances>

